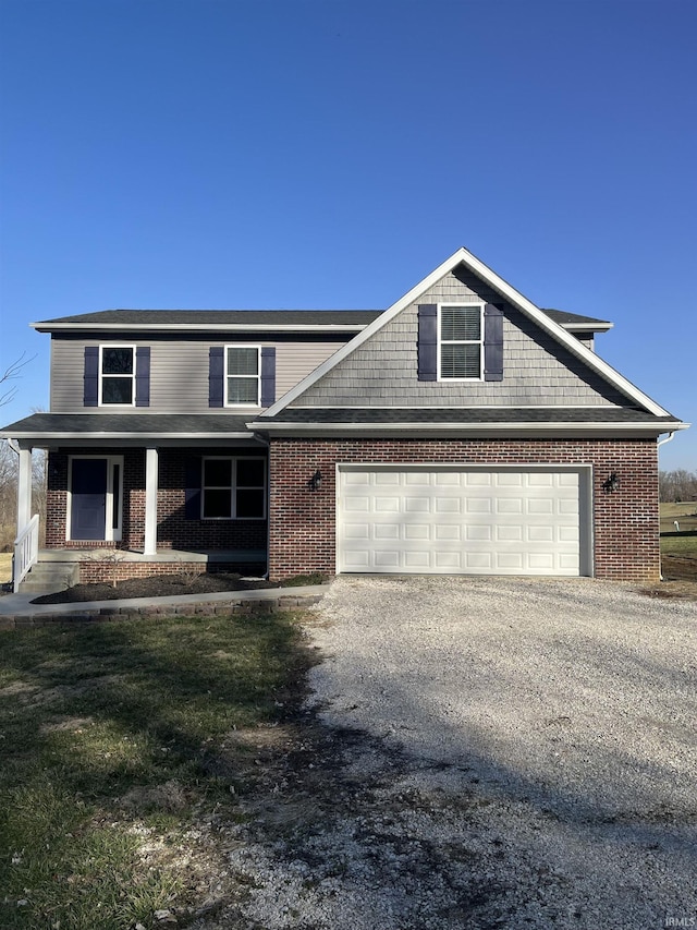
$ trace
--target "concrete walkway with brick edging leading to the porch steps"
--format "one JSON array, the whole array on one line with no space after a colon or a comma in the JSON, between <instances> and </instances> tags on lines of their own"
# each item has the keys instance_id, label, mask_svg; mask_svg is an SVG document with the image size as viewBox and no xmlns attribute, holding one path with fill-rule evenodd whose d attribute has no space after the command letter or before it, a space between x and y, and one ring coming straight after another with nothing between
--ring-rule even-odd
<instances>
[{"instance_id":1,"label":"concrete walkway with brick edging leading to the porch steps","mask_svg":"<svg viewBox=\"0 0 697 930\"><path fill-rule=\"evenodd\" d=\"M73 601L69 604L32 604L38 594L5 594L0 596L0 627L2 623L22 618L60 621L61 617L83 618L89 615L113 616L132 614L185 614L222 613L227 607L244 607L264 604L280 608L306 606L317 603L329 590L329 584L306 584L298 588L258 588L250 591L218 591L212 594L178 594L172 597L127 597L112 601ZM206 609L207 608L207 609Z\"/></svg>"}]
</instances>

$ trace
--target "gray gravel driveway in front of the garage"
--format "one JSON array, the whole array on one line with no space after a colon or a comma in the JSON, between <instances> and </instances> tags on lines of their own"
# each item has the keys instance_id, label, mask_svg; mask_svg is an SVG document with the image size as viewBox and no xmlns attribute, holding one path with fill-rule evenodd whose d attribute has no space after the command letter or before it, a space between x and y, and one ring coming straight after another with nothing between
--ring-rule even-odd
<instances>
[{"instance_id":1,"label":"gray gravel driveway in front of the garage","mask_svg":"<svg viewBox=\"0 0 697 930\"><path fill-rule=\"evenodd\" d=\"M352 738L313 830L233 856L247 926L697 926L697 603L343 577L310 635Z\"/></svg>"}]
</instances>

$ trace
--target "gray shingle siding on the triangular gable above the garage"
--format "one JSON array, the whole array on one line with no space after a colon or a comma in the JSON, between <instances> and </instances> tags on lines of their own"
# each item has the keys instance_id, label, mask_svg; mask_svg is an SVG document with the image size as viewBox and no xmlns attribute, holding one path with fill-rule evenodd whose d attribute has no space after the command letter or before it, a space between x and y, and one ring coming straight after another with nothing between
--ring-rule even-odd
<instances>
[{"instance_id":1,"label":"gray shingle siding on the triangular gable above the garage","mask_svg":"<svg viewBox=\"0 0 697 930\"><path fill-rule=\"evenodd\" d=\"M418 304L498 303L504 307L503 381L419 382ZM292 406L626 406L627 398L474 275L443 277Z\"/></svg>"}]
</instances>

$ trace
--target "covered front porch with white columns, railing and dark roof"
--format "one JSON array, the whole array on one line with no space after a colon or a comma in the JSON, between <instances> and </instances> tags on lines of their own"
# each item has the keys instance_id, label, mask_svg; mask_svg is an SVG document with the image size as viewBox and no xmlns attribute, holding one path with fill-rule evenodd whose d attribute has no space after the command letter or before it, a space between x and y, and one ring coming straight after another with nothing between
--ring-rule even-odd
<instances>
[{"instance_id":1,"label":"covered front porch with white columns, railing and dark roof","mask_svg":"<svg viewBox=\"0 0 697 930\"><path fill-rule=\"evenodd\" d=\"M15 590L36 564L71 578L78 569L81 581L266 564L266 445L240 418L196 418L187 432L188 419L34 414L8 427L19 454ZM34 448L48 451L40 552Z\"/></svg>"}]
</instances>

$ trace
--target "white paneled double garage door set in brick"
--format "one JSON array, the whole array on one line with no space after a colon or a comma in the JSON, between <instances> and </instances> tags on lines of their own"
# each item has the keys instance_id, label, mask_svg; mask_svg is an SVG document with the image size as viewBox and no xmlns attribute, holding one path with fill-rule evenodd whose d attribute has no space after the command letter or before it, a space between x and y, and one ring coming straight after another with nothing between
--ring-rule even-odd
<instances>
[{"instance_id":1,"label":"white paneled double garage door set in brick","mask_svg":"<svg viewBox=\"0 0 697 930\"><path fill-rule=\"evenodd\" d=\"M340 466L338 570L589 573L583 470Z\"/></svg>"}]
</instances>

